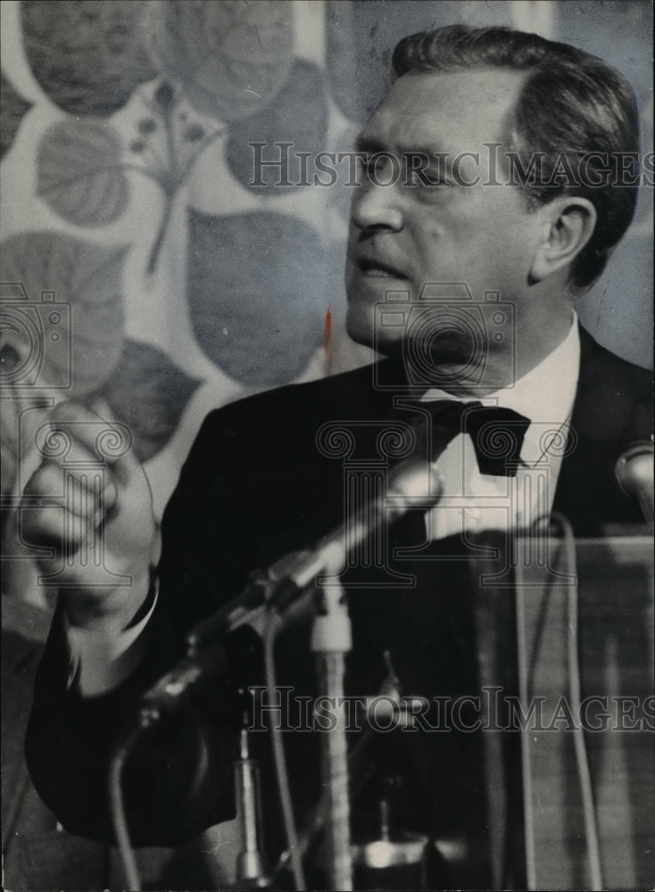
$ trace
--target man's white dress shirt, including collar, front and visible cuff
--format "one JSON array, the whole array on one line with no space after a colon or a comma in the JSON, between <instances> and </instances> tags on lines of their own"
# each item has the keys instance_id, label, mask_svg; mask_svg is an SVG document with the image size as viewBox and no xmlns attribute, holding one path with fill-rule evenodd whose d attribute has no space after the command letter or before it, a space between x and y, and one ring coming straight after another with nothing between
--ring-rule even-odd
<instances>
[{"instance_id":1,"label":"man's white dress shirt, including collar, front and visible cuff","mask_svg":"<svg viewBox=\"0 0 655 892\"><path fill-rule=\"evenodd\" d=\"M510 387L485 397L455 397L430 390L422 401L477 400L484 405L514 409L529 419L517 475L483 475L477 467L468 434L455 437L438 458L444 495L427 514L430 540L455 533L527 528L548 516L568 442L568 425L576 398L580 365L577 318L560 345ZM120 635L89 632L67 623L70 684L93 697L120 684L136 668L145 648L147 615Z\"/></svg>"}]
</instances>

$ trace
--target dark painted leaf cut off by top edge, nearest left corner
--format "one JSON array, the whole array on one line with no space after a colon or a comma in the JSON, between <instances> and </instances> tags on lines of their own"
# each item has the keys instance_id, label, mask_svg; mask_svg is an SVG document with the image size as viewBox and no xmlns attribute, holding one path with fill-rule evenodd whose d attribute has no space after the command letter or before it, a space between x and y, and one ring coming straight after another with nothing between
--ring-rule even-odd
<instances>
[{"instance_id":1,"label":"dark painted leaf cut off by top edge, nearest left corner","mask_svg":"<svg viewBox=\"0 0 655 892\"><path fill-rule=\"evenodd\" d=\"M63 111L109 115L156 77L142 45L148 0L23 0L25 52L39 85Z\"/></svg>"}]
</instances>

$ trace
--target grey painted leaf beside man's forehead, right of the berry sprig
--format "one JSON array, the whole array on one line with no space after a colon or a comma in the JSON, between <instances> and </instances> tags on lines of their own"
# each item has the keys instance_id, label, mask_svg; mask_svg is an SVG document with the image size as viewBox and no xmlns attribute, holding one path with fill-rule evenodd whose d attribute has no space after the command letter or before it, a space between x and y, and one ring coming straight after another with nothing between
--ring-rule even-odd
<instances>
[{"instance_id":1,"label":"grey painted leaf beside man's forehead, right of the berry sprig","mask_svg":"<svg viewBox=\"0 0 655 892\"><path fill-rule=\"evenodd\" d=\"M297 153L309 152L314 158L327 145L327 98L321 71L311 62L296 60L286 84L276 98L261 111L232 123L229 127L227 159L235 178L246 188L255 179L251 143L267 143L263 160L280 157L275 143L291 143L288 182L298 184L314 174L313 166L303 174ZM259 192L280 194L293 186L281 186L279 168L262 166L261 180L266 186Z\"/></svg>"}]
</instances>

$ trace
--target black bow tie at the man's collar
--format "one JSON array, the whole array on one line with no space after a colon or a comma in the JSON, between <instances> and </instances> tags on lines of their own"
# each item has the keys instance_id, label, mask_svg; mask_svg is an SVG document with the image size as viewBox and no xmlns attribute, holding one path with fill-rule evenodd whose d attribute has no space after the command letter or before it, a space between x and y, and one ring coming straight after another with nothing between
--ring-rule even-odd
<instances>
[{"instance_id":1,"label":"black bow tie at the man's collar","mask_svg":"<svg viewBox=\"0 0 655 892\"><path fill-rule=\"evenodd\" d=\"M436 461L458 434L468 434L481 474L516 475L529 418L478 401L437 400L421 403L420 409L410 418L417 437L415 451L420 455Z\"/></svg>"}]
</instances>

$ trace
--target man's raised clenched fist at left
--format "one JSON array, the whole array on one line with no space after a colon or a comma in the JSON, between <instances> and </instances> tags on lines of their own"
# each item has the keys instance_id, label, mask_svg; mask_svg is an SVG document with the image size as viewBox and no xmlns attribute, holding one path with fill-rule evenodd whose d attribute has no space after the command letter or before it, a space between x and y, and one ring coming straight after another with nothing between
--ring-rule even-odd
<instances>
[{"instance_id":1,"label":"man's raised clenched fist at left","mask_svg":"<svg viewBox=\"0 0 655 892\"><path fill-rule=\"evenodd\" d=\"M159 559L150 487L130 447L124 425L60 403L39 429L43 461L23 491L22 536L48 549L38 560L44 582L87 629L129 625Z\"/></svg>"}]
</instances>

